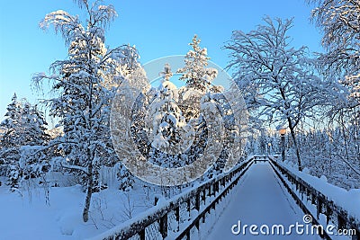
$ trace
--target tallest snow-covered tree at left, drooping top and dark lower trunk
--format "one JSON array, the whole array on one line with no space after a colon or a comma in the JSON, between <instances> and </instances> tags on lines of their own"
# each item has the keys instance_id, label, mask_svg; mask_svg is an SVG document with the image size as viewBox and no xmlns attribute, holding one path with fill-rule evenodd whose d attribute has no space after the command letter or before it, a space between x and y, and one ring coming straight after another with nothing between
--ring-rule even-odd
<instances>
[{"instance_id":1,"label":"tallest snow-covered tree at left, drooping top and dark lower trunk","mask_svg":"<svg viewBox=\"0 0 360 240\"><path fill-rule=\"evenodd\" d=\"M93 191L99 189L98 169L107 161L103 158L109 149L109 117L113 92L106 88L105 78L121 77L119 63L128 59L123 51L126 46L106 49L105 28L117 16L112 5L96 1L78 0L85 9L85 24L65 11L46 15L40 27L53 25L68 44L68 58L54 62L51 76L38 74L33 83L43 79L52 81L58 97L48 101L50 115L59 119L64 134L52 141L64 152L60 164L77 171L83 178L86 197L83 219L88 220ZM58 158L57 158L58 159ZM101 187L101 186L100 186Z\"/></svg>"}]
</instances>

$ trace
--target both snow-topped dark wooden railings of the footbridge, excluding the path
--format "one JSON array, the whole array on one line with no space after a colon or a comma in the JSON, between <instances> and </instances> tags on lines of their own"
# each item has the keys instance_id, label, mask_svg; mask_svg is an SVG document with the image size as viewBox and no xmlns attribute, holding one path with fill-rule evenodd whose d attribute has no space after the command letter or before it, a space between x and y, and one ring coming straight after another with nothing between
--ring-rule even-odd
<instances>
[{"instance_id":1,"label":"both snow-topped dark wooden railings of the footbridge, excluding the path","mask_svg":"<svg viewBox=\"0 0 360 240\"><path fill-rule=\"evenodd\" d=\"M220 174L208 182L203 182L195 189L185 191L171 200L148 209L145 215L131 218L121 226L113 227L93 239L191 239L192 231L201 230L211 210L218 208L221 200L227 197L249 166L264 161L270 163L277 177L303 212L312 216L313 225L319 226L320 214L324 214L327 224L331 220L337 224L338 229L356 229L352 239L360 239L360 224L345 209L328 200L327 196L309 183L267 156L253 156L238 164L229 173ZM316 213L311 212L309 204L307 206L308 200L316 208ZM326 231L320 233L320 236L331 239Z\"/></svg>"}]
</instances>

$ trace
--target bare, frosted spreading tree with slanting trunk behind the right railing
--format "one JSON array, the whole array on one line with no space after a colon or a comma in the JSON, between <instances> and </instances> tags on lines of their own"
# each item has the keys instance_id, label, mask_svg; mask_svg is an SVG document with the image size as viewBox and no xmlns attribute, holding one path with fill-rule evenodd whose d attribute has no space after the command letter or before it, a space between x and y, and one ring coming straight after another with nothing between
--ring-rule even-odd
<instances>
[{"instance_id":1,"label":"bare, frosted spreading tree with slanting trunk behind the right railing","mask_svg":"<svg viewBox=\"0 0 360 240\"><path fill-rule=\"evenodd\" d=\"M320 101L320 82L306 66L306 49L294 49L287 36L292 20L264 19L265 25L244 33L234 31L225 49L231 51L229 66L243 91L247 108L259 118L287 123L296 149L299 169L301 156L295 128Z\"/></svg>"}]
</instances>

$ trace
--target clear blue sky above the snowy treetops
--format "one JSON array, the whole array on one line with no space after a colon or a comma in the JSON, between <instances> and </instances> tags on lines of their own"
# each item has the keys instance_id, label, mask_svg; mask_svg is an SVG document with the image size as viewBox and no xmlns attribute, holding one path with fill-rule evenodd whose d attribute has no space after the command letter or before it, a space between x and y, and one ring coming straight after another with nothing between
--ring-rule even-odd
<instances>
[{"instance_id":1,"label":"clear blue sky above the snowy treetops","mask_svg":"<svg viewBox=\"0 0 360 240\"><path fill-rule=\"evenodd\" d=\"M169 55L184 55L198 34L211 61L226 67L229 58L221 49L234 30L250 31L270 17L294 17L289 32L293 46L322 51L320 32L309 21L311 6L304 0L183 0L104 1L113 4L119 17L107 31L106 45L136 45L142 64ZM39 22L46 13L62 9L84 18L71 0L5 1L0 9L0 120L16 92L35 103L42 97L31 91L31 76L47 72L49 65L67 58L61 36L42 31Z\"/></svg>"}]
</instances>

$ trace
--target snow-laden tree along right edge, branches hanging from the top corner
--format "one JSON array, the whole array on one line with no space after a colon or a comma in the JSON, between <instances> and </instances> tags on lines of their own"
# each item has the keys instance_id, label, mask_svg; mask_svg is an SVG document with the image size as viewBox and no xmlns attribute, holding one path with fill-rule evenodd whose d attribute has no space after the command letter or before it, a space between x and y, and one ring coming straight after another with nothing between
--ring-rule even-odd
<instances>
[{"instance_id":1,"label":"snow-laden tree along right edge, branches hanging from the top corner","mask_svg":"<svg viewBox=\"0 0 360 240\"><path fill-rule=\"evenodd\" d=\"M360 3L347 0L307 2L316 4L311 18L323 32L322 45L326 49L326 53L319 55L318 68L325 78L336 85L333 88L336 91L329 93L324 116L330 124L337 124L347 136L341 144L343 156L346 156L343 160L349 169L355 169L357 164L352 164L351 159L357 156L360 163ZM338 83L341 85L338 86ZM352 142L357 143L355 148ZM349 154L352 152L350 149L357 151Z\"/></svg>"}]
</instances>

